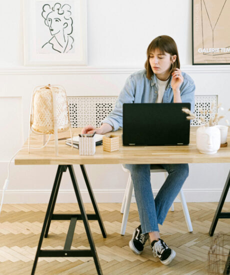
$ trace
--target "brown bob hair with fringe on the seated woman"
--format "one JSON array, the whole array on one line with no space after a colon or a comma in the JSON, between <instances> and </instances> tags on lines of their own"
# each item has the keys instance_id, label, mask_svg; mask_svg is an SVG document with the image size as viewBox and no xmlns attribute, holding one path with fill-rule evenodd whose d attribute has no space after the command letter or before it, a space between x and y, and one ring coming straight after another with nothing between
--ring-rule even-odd
<instances>
[{"instance_id":1,"label":"brown bob hair with fringe on the seated woman","mask_svg":"<svg viewBox=\"0 0 230 275\"><path fill-rule=\"evenodd\" d=\"M159 49L162 53L167 52L171 55L176 55L176 60L174 61L174 63L171 64L171 67L169 69L170 74L175 70L175 68L180 68L179 55L175 41L167 35L157 36L155 39L151 41L151 43L147 47L147 60L144 64L144 67L146 69L147 78L149 80L151 79L151 76L153 74L153 71L149 63L149 54L156 48Z\"/></svg>"}]
</instances>

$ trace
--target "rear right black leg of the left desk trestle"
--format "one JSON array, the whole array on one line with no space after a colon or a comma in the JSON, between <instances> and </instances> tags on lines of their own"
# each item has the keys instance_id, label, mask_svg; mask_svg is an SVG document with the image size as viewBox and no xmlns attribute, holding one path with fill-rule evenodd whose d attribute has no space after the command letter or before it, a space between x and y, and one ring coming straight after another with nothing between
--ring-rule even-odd
<instances>
[{"instance_id":1,"label":"rear right black leg of the left desk trestle","mask_svg":"<svg viewBox=\"0 0 230 275\"><path fill-rule=\"evenodd\" d=\"M95 214L96 214L99 226L100 226L101 233L102 233L103 237L106 238L107 234L106 234L106 231L105 231L105 228L104 228L103 221L102 221L101 216L100 216L98 206L96 204L95 197L94 197L93 192L92 192L92 187L91 187L91 184L89 182L88 175L86 173L86 170L85 170L85 167L84 167L83 164L80 164L80 168L81 168L81 171L82 171L82 174L83 174L83 177L84 177L85 184L86 184L87 189L88 189L90 199L92 201L92 205L93 205L93 208L94 208L94 211L95 211Z\"/></svg>"}]
</instances>

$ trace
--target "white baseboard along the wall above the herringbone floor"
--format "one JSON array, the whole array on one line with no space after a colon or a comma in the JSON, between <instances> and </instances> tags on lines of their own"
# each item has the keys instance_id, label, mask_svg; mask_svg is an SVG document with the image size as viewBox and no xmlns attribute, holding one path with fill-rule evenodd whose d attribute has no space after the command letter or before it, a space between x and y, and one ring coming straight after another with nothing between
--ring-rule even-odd
<instances>
[{"instance_id":1,"label":"white baseboard along the wall above the herringbone floor","mask_svg":"<svg viewBox=\"0 0 230 275\"><path fill-rule=\"evenodd\" d=\"M152 189L154 195L158 189ZM47 203L51 190L47 189L9 189L5 191L4 203ZM222 189L183 189L187 202L213 202L219 201ZM97 202L122 202L124 189L93 189ZM0 191L0 195L2 191ZM86 189L81 189L83 202L90 202ZM132 202L135 201L134 196ZM175 202L178 202L178 198ZM230 201L230 192L225 201ZM76 197L72 189L60 189L57 202L76 202Z\"/></svg>"}]
</instances>

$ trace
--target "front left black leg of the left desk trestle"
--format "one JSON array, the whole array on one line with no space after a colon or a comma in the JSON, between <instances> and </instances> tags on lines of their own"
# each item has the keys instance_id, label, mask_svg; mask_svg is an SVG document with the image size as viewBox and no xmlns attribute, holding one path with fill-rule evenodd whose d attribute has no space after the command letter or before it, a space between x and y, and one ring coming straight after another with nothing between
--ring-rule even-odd
<instances>
[{"instance_id":1,"label":"front left black leg of the left desk trestle","mask_svg":"<svg viewBox=\"0 0 230 275\"><path fill-rule=\"evenodd\" d=\"M41 248L42 240L43 240L43 237L44 237L45 228L46 228L46 225L47 225L47 222L48 222L48 218L50 216L51 207L53 205L55 190L56 190L56 187L57 187L57 184L58 184L59 176L62 173L61 169L62 169L61 165L58 165L55 180L54 180L54 183L53 183L53 186L52 186L51 195L50 195L48 206L47 206L47 210L46 210L45 217L44 217L43 226L42 226L41 233L40 233L39 242L38 242L37 249L36 249L35 258L34 258L34 261L33 261L31 275L34 274L35 269L36 269L36 264L37 264L38 256L39 256L39 253L40 253L40 248Z\"/></svg>"}]
</instances>

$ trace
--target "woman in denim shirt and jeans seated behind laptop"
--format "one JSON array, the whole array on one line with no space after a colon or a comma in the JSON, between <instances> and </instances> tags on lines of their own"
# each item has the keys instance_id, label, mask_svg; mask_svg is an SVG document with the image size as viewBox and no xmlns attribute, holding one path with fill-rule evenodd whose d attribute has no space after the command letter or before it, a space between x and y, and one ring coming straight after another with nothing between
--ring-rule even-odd
<instances>
[{"instance_id":1,"label":"woman in denim shirt and jeans seated behind laptop","mask_svg":"<svg viewBox=\"0 0 230 275\"><path fill-rule=\"evenodd\" d=\"M191 77L179 68L175 41L167 35L153 39L147 48L145 69L127 78L115 108L102 121L101 126L85 126L82 133L95 131L103 134L122 127L124 102L190 102L193 110L195 85ZM175 251L160 238L158 223L162 225L168 209L188 176L188 164L161 165L167 170L168 176L154 199L150 183L150 164L125 164L131 173L140 218L140 225L135 228L129 246L134 253L140 254L145 241L149 239L153 256L158 256L163 264L168 264L175 257Z\"/></svg>"}]
</instances>

